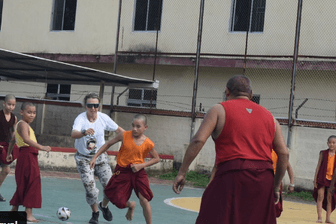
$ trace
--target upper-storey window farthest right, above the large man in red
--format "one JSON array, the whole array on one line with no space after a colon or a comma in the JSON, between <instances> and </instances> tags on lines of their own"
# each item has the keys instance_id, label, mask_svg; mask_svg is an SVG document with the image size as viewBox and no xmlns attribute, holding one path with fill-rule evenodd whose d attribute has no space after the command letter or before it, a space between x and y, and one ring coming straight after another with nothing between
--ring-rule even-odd
<instances>
[{"instance_id":1,"label":"upper-storey window farthest right, above the large man in red","mask_svg":"<svg viewBox=\"0 0 336 224\"><path fill-rule=\"evenodd\" d=\"M265 5L266 0L234 0L231 31L247 31L250 27L249 32L263 32Z\"/></svg>"}]
</instances>

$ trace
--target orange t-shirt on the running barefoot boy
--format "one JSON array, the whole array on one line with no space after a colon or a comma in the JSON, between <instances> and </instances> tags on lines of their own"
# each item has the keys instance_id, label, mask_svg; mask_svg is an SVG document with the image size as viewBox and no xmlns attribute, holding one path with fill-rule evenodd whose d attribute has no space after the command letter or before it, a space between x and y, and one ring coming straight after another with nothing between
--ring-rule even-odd
<instances>
[{"instance_id":1,"label":"orange t-shirt on the running barefoot boy","mask_svg":"<svg viewBox=\"0 0 336 224\"><path fill-rule=\"evenodd\" d=\"M137 146L134 143L132 131L123 133L123 142L117 156L117 163L121 167L127 167L129 164L141 164L149 151L154 148L154 143L146 138L145 141Z\"/></svg>"}]
</instances>

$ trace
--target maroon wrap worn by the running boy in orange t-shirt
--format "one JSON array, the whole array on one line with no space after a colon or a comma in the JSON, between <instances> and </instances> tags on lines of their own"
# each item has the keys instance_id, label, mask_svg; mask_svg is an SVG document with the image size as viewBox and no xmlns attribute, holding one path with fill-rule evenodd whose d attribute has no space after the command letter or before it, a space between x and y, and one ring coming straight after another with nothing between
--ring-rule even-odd
<instances>
[{"instance_id":1,"label":"maroon wrap worn by the running boy in orange t-shirt","mask_svg":"<svg viewBox=\"0 0 336 224\"><path fill-rule=\"evenodd\" d=\"M124 168L116 165L113 176L104 189L106 197L118 208L126 208L133 189L137 197L140 192L148 201L152 200L153 193L144 169L133 173L130 166Z\"/></svg>"}]
</instances>

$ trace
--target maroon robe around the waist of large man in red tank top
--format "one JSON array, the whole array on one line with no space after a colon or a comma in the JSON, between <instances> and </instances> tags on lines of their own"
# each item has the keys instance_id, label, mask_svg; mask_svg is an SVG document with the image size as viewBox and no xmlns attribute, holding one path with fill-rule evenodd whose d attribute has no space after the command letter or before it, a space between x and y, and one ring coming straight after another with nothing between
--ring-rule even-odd
<instances>
[{"instance_id":1,"label":"maroon robe around the waist of large man in red tank top","mask_svg":"<svg viewBox=\"0 0 336 224\"><path fill-rule=\"evenodd\" d=\"M220 163L205 189L196 224L276 224L274 171L265 161Z\"/></svg>"}]
</instances>

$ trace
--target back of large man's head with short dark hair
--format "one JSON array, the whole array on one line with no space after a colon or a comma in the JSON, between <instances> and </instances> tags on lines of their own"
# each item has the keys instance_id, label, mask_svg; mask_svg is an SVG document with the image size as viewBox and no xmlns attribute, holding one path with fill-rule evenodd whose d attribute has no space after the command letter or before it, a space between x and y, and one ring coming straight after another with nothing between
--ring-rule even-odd
<instances>
[{"instance_id":1,"label":"back of large man's head with short dark hair","mask_svg":"<svg viewBox=\"0 0 336 224\"><path fill-rule=\"evenodd\" d=\"M226 88L234 96L250 96L251 80L245 75L234 75L226 83Z\"/></svg>"}]
</instances>

